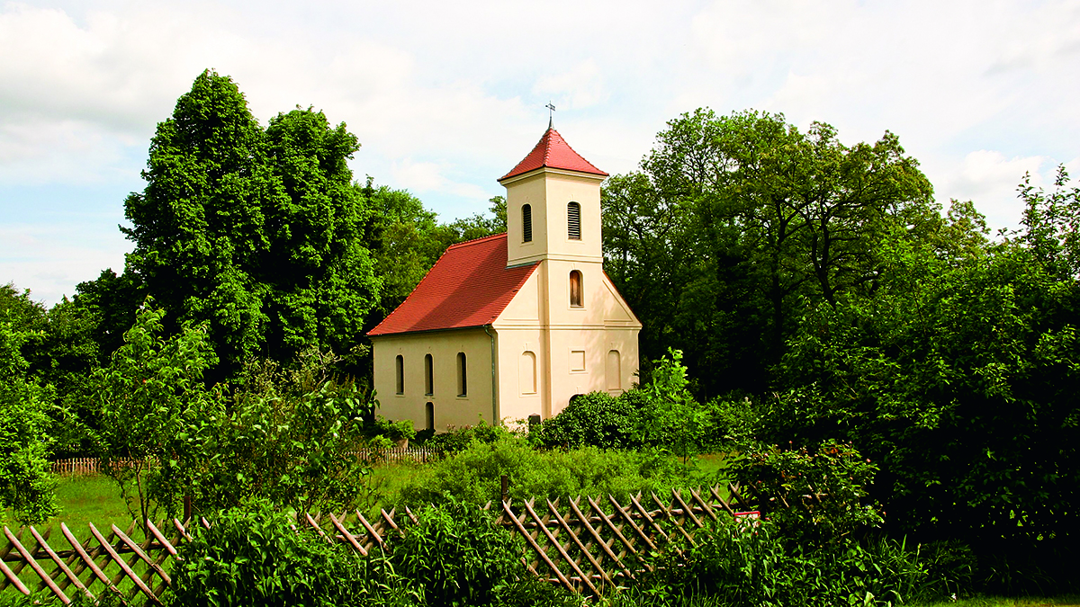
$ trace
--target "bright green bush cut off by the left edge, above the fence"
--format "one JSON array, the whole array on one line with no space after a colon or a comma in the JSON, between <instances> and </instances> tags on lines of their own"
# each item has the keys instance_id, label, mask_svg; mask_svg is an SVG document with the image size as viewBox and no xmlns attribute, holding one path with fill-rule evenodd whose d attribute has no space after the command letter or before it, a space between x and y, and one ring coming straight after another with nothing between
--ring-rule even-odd
<instances>
[{"instance_id":1,"label":"bright green bush cut off by the left edge, above the fence","mask_svg":"<svg viewBox=\"0 0 1080 607\"><path fill-rule=\"evenodd\" d=\"M19 521L40 523L56 512L45 459L52 390L28 375L22 346L33 333L16 328L12 316L11 309L0 311L0 512L12 508Z\"/></svg>"}]
</instances>

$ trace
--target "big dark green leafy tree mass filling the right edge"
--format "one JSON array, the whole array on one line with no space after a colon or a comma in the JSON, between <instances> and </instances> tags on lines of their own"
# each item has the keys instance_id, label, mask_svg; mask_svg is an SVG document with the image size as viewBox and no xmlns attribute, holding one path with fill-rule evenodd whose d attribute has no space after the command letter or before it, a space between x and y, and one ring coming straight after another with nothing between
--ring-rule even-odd
<instances>
[{"instance_id":1,"label":"big dark green leafy tree mass filling the right edge","mask_svg":"<svg viewBox=\"0 0 1080 607\"><path fill-rule=\"evenodd\" d=\"M773 437L853 441L880 461L897 531L986 554L1067 548L1080 531L1080 204L1066 185L1024 187L1023 229L967 257L887 243L875 296L816 306L793 337Z\"/></svg>"}]
</instances>

